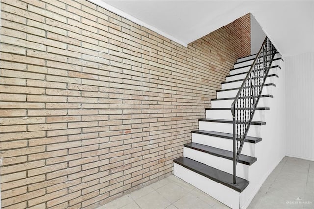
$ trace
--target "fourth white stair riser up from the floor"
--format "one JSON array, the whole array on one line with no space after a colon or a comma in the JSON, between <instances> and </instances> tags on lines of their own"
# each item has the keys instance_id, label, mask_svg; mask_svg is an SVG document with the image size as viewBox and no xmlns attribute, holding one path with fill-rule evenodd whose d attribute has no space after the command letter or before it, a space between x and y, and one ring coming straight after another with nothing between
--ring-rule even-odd
<instances>
[{"instance_id":1,"label":"fourth white stair riser up from the floor","mask_svg":"<svg viewBox=\"0 0 314 209\"><path fill-rule=\"evenodd\" d=\"M232 123L199 121L199 129L205 130L205 131L233 133ZM261 137L261 125L251 125L247 135L254 136L254 137Z\"/></svg>"}]
</instances>

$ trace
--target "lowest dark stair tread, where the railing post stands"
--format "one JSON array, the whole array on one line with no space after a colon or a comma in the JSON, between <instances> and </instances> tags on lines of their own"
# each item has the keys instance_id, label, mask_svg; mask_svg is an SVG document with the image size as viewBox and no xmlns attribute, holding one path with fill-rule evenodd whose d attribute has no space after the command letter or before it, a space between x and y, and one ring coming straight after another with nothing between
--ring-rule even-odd
<instances>
[{"instance_id":1,"label":"lowest dark stair tread, where the railing post stands","mask_svg":"<svg viewBox=\"0 0 314 209\"><path fill-rule=\"evenodd\" d=\"M217 183L221 183L235 191L242 192L248 185L249 181L236 177L236 185L233 184L233 176L227 172L210 167L203 163L197 162L187 157L180 157L174 160L177 163L191 171L194 171L204 177L207 177Z\"/></svg>"}]
</instances>

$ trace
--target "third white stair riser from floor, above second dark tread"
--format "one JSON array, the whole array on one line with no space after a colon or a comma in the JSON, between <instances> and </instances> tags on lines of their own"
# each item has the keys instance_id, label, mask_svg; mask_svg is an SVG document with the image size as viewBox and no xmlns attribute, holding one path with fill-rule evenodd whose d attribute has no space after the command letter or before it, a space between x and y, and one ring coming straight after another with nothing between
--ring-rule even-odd
<instances>
[{"instance_id":1,"label":"third white stair riser from floor, above second dark tread","mask_svg":"<svg viewBox=\"0 0 314 209\"><path fill-rule=\"evenodd\" d=\"M192 142L204 144L219 149L233 151L233 142L231 139L209 136L204 134L192 133ZM242 154L255 157L255 144L245 142Z\"/></svg>"}]
</instances>

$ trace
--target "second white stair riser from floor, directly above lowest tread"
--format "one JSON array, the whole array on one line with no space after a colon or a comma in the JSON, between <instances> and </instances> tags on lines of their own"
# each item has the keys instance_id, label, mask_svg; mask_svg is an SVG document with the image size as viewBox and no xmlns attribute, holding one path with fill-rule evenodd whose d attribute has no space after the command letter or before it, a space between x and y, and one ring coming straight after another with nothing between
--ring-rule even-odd
<instances>
[{"instance_id":1,"label":"second white stair riser from floor, directly above lowest tread","mask_svg":"<svg viewBox=\"0 0 314 209\"><path fill-rule=\"evenodd\" d=\"M218 170L233 174L233 161L210 155L205 152L194 150L188 147L183 147L184 157L188 157L210 167L217 168ZM236 165L236 176L249 180L249 166L242 163Z\"/></svg>"}]
</instances>

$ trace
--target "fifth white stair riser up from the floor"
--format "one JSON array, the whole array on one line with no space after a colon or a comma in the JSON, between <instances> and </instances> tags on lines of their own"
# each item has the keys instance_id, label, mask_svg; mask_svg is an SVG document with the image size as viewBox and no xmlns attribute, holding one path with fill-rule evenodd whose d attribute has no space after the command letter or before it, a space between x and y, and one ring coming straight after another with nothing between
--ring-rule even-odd
<instances>
[{"instance_id":1,"label":"fifth white stair riser up from the floor","mask_svg":"<svg viewBox=\"0 0 314 209\"><path fill-rule=\"evenodd\" d=\"M268 110L255 110L253 121L265 121L265 111ZM206 118L212 119L232 119L232 114L230 110L206 110Z\"/></svg>"}]
</instances>

